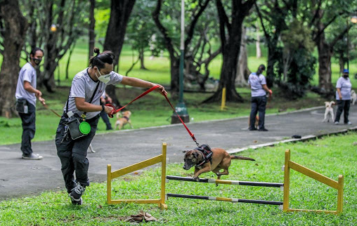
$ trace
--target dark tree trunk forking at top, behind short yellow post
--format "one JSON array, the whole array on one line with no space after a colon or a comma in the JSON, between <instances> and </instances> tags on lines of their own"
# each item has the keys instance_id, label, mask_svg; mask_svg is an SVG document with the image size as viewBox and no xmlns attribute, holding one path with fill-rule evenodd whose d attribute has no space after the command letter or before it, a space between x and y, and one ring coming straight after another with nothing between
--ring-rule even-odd
<instances>
[{"instance_id":1,"label":"dark tree trunk forking at top, behind short yellow post","mask_svg":"<svg viewBox=\"0 0 357 226\"><path fill-rule=\"evenodd\" d=\"M238 56L242 38L242 23L252 8L255 0L232 0L231 22L221 0L216 0L219 15L219 29L221 35L221 48L223 64L219 88L212 97L205 102L221 100L222 89L226 87L226 100L242 102L242 97L235 91L235 76L237 72Z\"/></svg>"}]
</instances>

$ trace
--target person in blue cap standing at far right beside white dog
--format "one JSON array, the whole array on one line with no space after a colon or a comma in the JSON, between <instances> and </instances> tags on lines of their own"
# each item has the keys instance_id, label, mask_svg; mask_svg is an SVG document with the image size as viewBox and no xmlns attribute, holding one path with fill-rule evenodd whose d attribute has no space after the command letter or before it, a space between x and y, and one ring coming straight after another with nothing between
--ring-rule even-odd
<instances>
[{"instance_id":1,"label":"person in blue cap standing at far right beside white dog","mask_svg":"<svg viewBox=\"0 0 357 226\"><path fill-rule=\"evenodd\" d=\"M351 125L351 121L349 121L349 107L351 105L352 84L349 80L349 69L344 69L342 77L337 80L336 88L336 100L338 107L335 124L339 124L339 118L341 117L342 112L344 112L344 124Z\"/></svg>"}]
</instances>

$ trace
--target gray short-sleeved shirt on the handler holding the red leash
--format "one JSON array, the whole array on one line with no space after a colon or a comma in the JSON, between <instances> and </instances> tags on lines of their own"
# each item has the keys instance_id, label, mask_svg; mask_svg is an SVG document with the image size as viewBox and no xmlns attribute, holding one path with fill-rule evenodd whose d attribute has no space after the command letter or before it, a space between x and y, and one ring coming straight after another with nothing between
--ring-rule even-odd
<instances>
[{"instance_id":1,"label":"gray short-sleeved shirt on the handler holding the red leash","mask_svg":"<svg viewBox=\"0 0 357 226\"><path fill-rule=\"evenodd\" d=\"M84 69L82 72L79 72L76 74L72 81L70 98L68 100L68 112L72 111L73 113L77 113L79 116L81 116L84 112L80 112L79 109L77 109L74 98L84 98L86 102L89 102L98 83L99 86L91 104L100 105L100 96L103 95L105 87L107 87L107 85L119 84L122 82L122 79L123 76L121 74L110 72L110 81L108 84L104 84L101 81L94 81L91 77L89 77L88 68ZM64 112L66 112L66 105L67 102L65 107L63 107ZM100 112L87 112L86 119L96 117L96 115L99 113Z\"/></svg>"}]
</instances>

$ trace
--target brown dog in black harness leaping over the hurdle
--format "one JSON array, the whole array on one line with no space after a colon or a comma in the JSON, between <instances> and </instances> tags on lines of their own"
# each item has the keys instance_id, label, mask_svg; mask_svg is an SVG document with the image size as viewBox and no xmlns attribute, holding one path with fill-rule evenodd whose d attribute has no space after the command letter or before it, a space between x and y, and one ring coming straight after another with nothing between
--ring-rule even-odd
<instances>
[{"instance_id":1,"label":"brown dog in black harness leaping over the hurdle","mask_svg":"<svg viewBox=\"0 0 357 226\"><path fill-rule=\"evenodd\" d=\"M254 159L247 157L240 157L235 155L230 155L226 150L221 148L212 148L212 164L210 161L205 162L205 164L200 165L202 161L205 161L205 157L202 152L197 149L193 149L190 151L185 151L185 157L183 161L185 164L183 168L188 171L191 167L195 166L195 172L193 174L193 179L199 180L198 176L202 173L207 173L212 171L216 173L217 179L221 178L221 175L228 175L228 168L231 166L231 159L242 159L242 160L250 160L255 161ZM200 166L197 166L200 165ZM223 172L220 172L223 169Z\"/></svg>"}]
</instances>

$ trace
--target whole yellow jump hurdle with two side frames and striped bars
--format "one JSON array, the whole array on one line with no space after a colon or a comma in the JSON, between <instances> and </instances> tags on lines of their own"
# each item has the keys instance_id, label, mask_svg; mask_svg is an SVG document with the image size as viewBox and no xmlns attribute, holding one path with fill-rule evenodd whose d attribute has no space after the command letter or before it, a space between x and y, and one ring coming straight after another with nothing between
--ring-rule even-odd
<instances>
[{"instance_id":1,"label":"whole yellow jump hurdle with two side frames and striped bars","mask_svg":"<svg viewBox=\"0 0 357 226\"><path fill-rule=\"evenodd\" d=\"M179 176L166 176L166 153L167 145L162 143L162 154L145 161L141 161L138 164L127 166L125 168L119 169L117 171L111 172L111 165L107 166L107 203L108 204L119 204L119 203L138 203L138 204L158 204L162 209L167 209L165 204L165 199L168 197L176 198L186 198L186 199L205 199L205 200L215 200L215 201L231 201L233 203L251 203L251 204L267 204L267 205L278 205L283 208L284 212L316 212L316 213L342 213L343 208L343 189L344 189L344 176L339 175L338 182L327 178L325 175L316 173L309 168L301 166L300 164L290 161L290 150L285 151L285 164L283 166L284 171L284 183L278 182L252 182L252 181L240 181L240 180L216 180L216 179L205 179L200 178L199 181L193 180L193 178L179 177ZM118 178L119 176L137 171L141 168L152 166L157 163L162 163L162 174L161 174L161 197L160 199L119 199L112 200L111 197L111 180ZM337 190L337 211L323 211L323 210L306 210L306 209L294 209L289 208L289 198L290 198L290 169L298 171L310 178L323 182L325 185L333 187ZM165 180L166 179L166 180ZM245 186L259 186L259 187L280 187L283 189L283 202L282 201L265 201L265 200L254 200L254 199L235 199L235 198L225 198L225 197L209 197L209 196L199 196L199 195L188 195L188 194L171 194L165 195L165 183L169 180L180 180L188 182L205 182L214 184L225 184L225 185L245 185Z\"/></svg>"}]
</instances>

